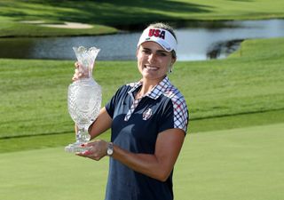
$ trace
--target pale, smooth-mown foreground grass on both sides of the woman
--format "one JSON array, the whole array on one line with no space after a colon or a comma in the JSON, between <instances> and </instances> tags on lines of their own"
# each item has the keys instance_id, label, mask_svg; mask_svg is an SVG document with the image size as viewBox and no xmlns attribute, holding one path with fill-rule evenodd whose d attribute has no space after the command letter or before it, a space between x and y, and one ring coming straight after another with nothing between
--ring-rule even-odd
<instances>
[{"instance_id":1,"label":"pale, smooth-mown foreground grass on both sides of the woman","mask_svg":"<svg viewBox=\"0 0 284 200\"><path fill-rule=\"evenodd\" d=\"M284 124L186 136L177 161L177 200L281 200ZM99 200L107 159L73 156L61 148L0 154L0 199Z\"/></svg>"}]
</instances>

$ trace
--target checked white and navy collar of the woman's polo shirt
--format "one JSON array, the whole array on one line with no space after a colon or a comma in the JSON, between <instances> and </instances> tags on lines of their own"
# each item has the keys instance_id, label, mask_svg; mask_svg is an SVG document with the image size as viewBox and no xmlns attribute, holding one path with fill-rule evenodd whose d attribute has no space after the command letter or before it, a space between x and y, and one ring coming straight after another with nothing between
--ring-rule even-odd
<instances>
[{"instance_id":1,"label":"checked white and navy collar of the woman's polo shirt","mask_svg":"<svg viewBox=\"0 0 284 200\"><path fill-rule=\"evenodd\" d=\"M143 84L142 80L135 83L130 91L128 92L131 96L133 96L133 92L138 89L139 86ZM147 92L145 96L151 98L151 99L158 99L163 92L166 91L166 89L170 86L170 80L169 77L166 76L162 79L162 81L159 84L156 84L154 88L150 92Z\"/></svg>"}]
</instances>

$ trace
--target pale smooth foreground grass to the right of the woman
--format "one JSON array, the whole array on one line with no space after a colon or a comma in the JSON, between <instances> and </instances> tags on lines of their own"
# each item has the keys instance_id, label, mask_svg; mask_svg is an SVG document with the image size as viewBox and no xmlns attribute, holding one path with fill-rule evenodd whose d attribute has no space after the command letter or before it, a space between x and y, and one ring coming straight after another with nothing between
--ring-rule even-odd
<instances>
[{"instance_id":1,"label":"pale smooth foreground grass to the right of the woman","mask_svg":"<svg viewBox=\"0 0 284 200\"><path fill-rule=\"evenodd\" d=\"M272 124L190 135L175 168L177 200L282 199L283 132Z\"/></svg>"}]
</instances>

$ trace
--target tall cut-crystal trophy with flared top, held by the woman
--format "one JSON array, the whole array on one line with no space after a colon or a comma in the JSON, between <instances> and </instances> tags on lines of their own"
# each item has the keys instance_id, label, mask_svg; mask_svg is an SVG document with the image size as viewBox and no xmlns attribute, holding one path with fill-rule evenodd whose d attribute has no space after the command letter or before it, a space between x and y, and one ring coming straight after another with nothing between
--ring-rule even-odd
<instances>
[{"instance_id":1,"label":"tall cut-crystal trophy with flared top, held by the woman","mask_svg":"<svg viewBox=\"0 0 284 200\"><path fill-rule=\"evenodd\" d=\"M81 145L90 140L88 128L99 116L102 98L101 87L92 77L92 69L99 49L96 47L86 49L79 46L73 47L73 50L78 62L81 64L79 73L82 76L68 87L68 111L78 128L75 143L69 144L65 148L65 151L70 153L86 150Z\"/></svg>"}]
</instances>

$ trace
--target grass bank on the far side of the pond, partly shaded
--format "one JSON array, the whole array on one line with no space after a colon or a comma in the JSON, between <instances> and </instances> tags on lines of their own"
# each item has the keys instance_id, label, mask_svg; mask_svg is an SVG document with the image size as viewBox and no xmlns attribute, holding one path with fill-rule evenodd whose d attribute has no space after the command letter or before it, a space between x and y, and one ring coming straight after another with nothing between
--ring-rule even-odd
<instances>
[{"instance_id":1,"label":"grass bank on the far side of the pond, partly shaded","mask_svg":"<svg viewBox=\"0 0 284 200\"><path fill-rule=\"evenodd\" d=\"M0 36L78 36L109 34L114 27L146 25L153 21L260 20L284 18L283 1L205 1L205 0L0 0ZM43 23L75 21L93 25L91 29L43 28L22 20ZM191 21L187 23L188 21Z\"/></svg>"}]
</instances>

